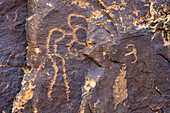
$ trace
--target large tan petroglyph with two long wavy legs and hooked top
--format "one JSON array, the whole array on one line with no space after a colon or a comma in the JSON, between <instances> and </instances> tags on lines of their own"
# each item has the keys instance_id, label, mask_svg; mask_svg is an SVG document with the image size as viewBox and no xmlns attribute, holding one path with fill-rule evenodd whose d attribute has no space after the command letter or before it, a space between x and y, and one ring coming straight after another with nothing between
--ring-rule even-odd
<instances>
[{"instance_id":1,"label":"large tan petroglyph with two long wavy legs and hooked top","mask_svg":"<svg viewBox=\"0 0 170 113\"><path fill-rule=\"evenodd\" d=\"M49 99L51 98L51 93L52 93L52 88L53 88L53 85L55 84L55 81L56 81L56 77L57 77L57 73L58 73L58 64L56 64L55 62L55 57L54 56L57 56L60 58L60 60L62 61L62 70L63 70L63 77L64 77L64 83L65 83L65 87L66 87L66 93L67 93L67 100L69 101L69 81L68 81L68 77L67 77L67 74L66 74L66 68L65 68L65 58L67 58L68 54L71 54L73 56L76 56L78 57L78 51L76 48L74 48L74 51L71 51L72 49L72 44L73 43L78 43L80 45L85 45L85 42L82 42L82 41L79 41L78 39L78 36L77 36L77 30L78 29L84 29L86 30L86 27L83 26L83 25L72 25L71 23L71 17L77 17L77 18L80 18L80 19L84 19L84 16L81 16L81 15L76 15L76 14L70 14L68 15L68 26L70 28L72 28L72 32L66 32L65 30L63 29L60 29L60 28L57 28L57 27L54 27L52 29L49 30L49 33L48 33L48 37L47 37L47 55L48 57L52 60L53 62L53 67L54 67L54 75L53 75L53 78L51 79L51 83L50 83L50 86L49 86L49 90L48 90L48 97ZM53 36L54 35L54 36ZM62 55L59 51L58 51L58 43L60 41L62 41L64 38L69 38L69 36L72 36L72 39L68 39L70 41L68 41L67 43L65 43L65 47L67 47L67 50L68 52L64 55ZM63 44L63 43L62 43Z\"/></svg>"}]
</instances>

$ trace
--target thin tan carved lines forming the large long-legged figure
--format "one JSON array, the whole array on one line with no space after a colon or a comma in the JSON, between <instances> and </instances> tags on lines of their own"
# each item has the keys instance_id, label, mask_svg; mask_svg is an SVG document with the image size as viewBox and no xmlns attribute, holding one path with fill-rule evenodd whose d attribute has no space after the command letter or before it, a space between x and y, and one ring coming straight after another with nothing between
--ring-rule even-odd
<instances>
[{"instance_id":1,"label":"thin tan carved lines forming the large long-legged figure","mask_svg":"<svg viewBox=\"0 0 170 113\"><path fill-rule=\"evenodd\" d=\"M63 74L63 77L64 77L64 83L65 83L65 87L66 87L66 93L67 93L67 100L68 100L68 101L69 101L69 92L70 92L70 90L69 90L69 82L68 82L68 80L67 80L68 78L67 78L67 75L66 75L65 58L57 52L57 47L58 47L57 42L61 41L61 40L65 37L65 35L72 35L72 36L73 36L73 39L70 41L70 43L66 44L66 45L68 46L68 47L67 47L67 50L68 50L68 53L70 53L70 54L72 54L72 55L74 55L74 56L78 56L78 52L77 52L76 48L75 48L75 53L73 53L72 51L70 51L71 44L72 44L73 42L78 42L78 43L80 43L80 44L84 44L84 43L78 41L75 32L76 32L76 30L79 29L79 28L86 29L85 27L80 26L80 25L72 26L72 25L71 25L71 22L70 22L70 21L71 21L71 20L70 20L71 16L77 16L77 17L83 17L83 18L84 18L84 16L77 15L77 14L70 14L70 15L68 15L68 17L67 17L68 26L69 26L70 28L72 28L72 32L65 32L65 30L63 30L63 29L61 29L61 28L54 27L54 28L52 28L51 30L49 30L49 34L48 34L48 37L47 37L47 55L48 55L48 57L51 59L51 61L53 62L53 67L54 67L54 70L55 70L54 76L53 76L53 78L51 79L51 83L50 83L50 86L49 86L48 97L51 98L52 88L53 88L53 85L54 85L54 83L55 83L55 81L56 81L57 72L58 72L57 64L56 64L56 62L54 61L54 59L52 58L52 55L55 55L55 56L61 58L61 60L62 60L62 68L63 68L63 73L64 73L64 74ZM63 36L60 37L60 38L58 38L58 39L55 39L55 44L54 44L54 45L50 45L51 35L52 35L52 33L53 33L54 31L56 31L56 30L58 30L58 31L60 31L61 33L63 33ZM49 45L54 47L54 53L52 53L52 54L50 53Z\"/></svg>"}]
</instances>

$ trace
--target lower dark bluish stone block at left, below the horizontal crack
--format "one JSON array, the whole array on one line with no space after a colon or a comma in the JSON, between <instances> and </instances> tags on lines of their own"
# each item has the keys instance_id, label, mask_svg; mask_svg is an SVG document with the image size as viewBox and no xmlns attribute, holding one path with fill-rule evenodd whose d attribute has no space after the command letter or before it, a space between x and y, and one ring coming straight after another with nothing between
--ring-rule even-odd
<instances>
[{"instance_id":1,"label":"lower dark bluish stone block at left, below the horizontal crack","mask_svg":"<svg viewBox=\"0 0 170 113\"><path fill-rule=\"evenodd\" d=\"M10 113L15 96L21 88L23 70L0 66L0 112Z\"/></svg>"}]
</instances>

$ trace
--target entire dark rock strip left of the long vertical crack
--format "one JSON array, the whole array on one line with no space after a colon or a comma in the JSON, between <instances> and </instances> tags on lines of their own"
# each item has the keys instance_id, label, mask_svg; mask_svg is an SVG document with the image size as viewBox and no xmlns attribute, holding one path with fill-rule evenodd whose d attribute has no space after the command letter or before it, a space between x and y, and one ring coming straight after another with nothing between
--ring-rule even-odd
<instances>
[{"instance_id":1,"label":"entire dark rock strip left of the long vertical crack","mask_svg":"<svg viewBox=\"0 0 170 113\"><path fill-rule=\"evenodd\" d=\"M0 113L10 113L26 65L26 0L0 0Z\"/></svg>"}]
</instances>

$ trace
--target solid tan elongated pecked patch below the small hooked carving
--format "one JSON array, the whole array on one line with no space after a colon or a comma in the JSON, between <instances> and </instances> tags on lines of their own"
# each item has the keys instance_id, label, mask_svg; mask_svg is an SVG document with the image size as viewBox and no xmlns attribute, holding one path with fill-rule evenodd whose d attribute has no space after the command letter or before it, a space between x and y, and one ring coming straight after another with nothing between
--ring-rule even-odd
<instances>
[{"instance_id":1,"label":"solid tan elongated pecked patch below the small hooked carving","mask_svg":"<svg viewBox=\"0 0 170 113\"><path fill-rule=\"evenodd\" d=\"M120 69L120 74L116 77L114 85L113 85L113 97L114 97L114 103L115 107L123 100L125 100L128 96L127 93L127 80L125 78L126 76L126 64L122 64L122 67Z\"/></svg>"}]
</instances>

